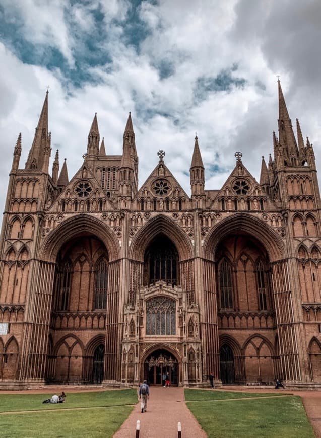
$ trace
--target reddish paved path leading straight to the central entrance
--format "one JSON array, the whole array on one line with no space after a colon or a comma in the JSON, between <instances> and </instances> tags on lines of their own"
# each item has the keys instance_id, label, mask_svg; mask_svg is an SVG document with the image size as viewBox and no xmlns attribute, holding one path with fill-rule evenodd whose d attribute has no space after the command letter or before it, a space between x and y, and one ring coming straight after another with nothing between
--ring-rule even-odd
<instances>
[{"instance_id":1,"label":"reddish paved path leading straight to the central entrance","mask_svg":"<svg viewBox=\"0 0 321 438\"><path fill-rule=\"evenodd\" d=\"M206 438L207 434L185 404L184 388L151 387L150 393L147 412L142 414L138 403L114 438L134 437L137 420L141 421L140 438L177 438L178 421L182 438Z\"/></svg>"}]
</instances>

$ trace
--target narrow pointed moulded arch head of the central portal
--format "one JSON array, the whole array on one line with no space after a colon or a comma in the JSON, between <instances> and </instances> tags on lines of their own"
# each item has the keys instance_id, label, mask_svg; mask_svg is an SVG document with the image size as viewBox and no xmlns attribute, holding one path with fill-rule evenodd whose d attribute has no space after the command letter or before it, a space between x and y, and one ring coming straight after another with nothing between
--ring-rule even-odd
<instances>
[{"instance_id":1,"label":"narrow pointed moulded arch head of the central portal","mask_svg":"<svg viewBox=\"0 0 321 438\"><path fill-rule=\"evenodd\" d=\"M174 243L180 261L192 257L192 247L186 234L174 221L163 214L152 218L135 236L130 247L130 257L144 261L144 254L149 243L160 233L163 233Z\"/></svg>"}]
</instances>

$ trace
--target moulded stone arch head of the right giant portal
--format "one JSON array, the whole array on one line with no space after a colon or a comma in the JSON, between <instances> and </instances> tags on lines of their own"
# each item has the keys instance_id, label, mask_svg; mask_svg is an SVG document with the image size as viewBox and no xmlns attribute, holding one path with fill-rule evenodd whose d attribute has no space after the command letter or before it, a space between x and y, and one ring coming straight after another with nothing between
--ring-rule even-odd
<instances>
[{"instance_id":1,"label":"moulded stone arch head of the right giant portal","mask_svg":"<svg viewBox=\"0 0 321 438\"><path fill-rule=\"evenodd\" d=\"M246 213L234 213L219 222L204 242L203 256L214 260L218 244L230 234L249 234L258 239L266 249L270 262L285 257L284 244L277 234L263 221Z\"/></svg>"}]
</instances>

